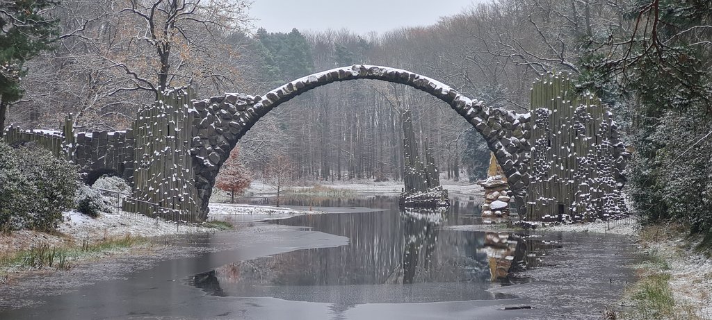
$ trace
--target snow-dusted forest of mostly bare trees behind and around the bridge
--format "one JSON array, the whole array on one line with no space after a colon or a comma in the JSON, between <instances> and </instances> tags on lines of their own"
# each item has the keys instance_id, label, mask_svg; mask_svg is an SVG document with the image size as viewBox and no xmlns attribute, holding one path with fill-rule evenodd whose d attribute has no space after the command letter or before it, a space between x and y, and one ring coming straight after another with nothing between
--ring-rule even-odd
<instances>
[{"instance_id":1,"label":"snow-dusted forest of mostly bare trees behind and around the bridge","mask_svg":"<svg viewBox=\"0 0 712 320\"><path fill-rule=\"evenodd\" d=\"M535 78L572 73L626 134L634 208L712 235L712 1L503 0L381 35L251 31L248 6L0 0L0 114L51 129L73 112L80 130L120 130L161 87L262 94L352 63L404 68L525 112ZM28 13L43 28L26 26ZM41 40L15 48L23 37ZM329 85L274 110L244 137L241 156L258 171L288 155L302 178L399 178L404 108L442 173L484 173L486 146L448 106L372 81Z\"/></svg>"}]
</instances>

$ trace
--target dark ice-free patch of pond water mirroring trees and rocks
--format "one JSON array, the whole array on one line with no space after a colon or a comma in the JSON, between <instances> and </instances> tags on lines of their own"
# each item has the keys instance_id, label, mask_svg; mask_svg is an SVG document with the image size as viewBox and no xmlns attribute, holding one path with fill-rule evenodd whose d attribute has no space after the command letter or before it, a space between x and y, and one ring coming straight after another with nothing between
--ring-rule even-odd
<instances>
[{"instance_id":1,"label":"dark ice-free patch of pond water mirroring trees and rocks","mask_svg":"<svg viewBox=\"0 0 712 320\"><path fill-rule=\"evenodd\" d=\"M187 280L216 296L362 304L508 298L493 285L538 262L528 235L466 232L447 225L478 222L476 201L446 210L399 211L397 198L293 199L287 206L368 207L372 212L300 215L273 223L342 235L349 245L298 250L229 265ZM343 212L340 210L338 212ZM495 282L495 284L493 284Z\"/></svg>"}]
</instances>

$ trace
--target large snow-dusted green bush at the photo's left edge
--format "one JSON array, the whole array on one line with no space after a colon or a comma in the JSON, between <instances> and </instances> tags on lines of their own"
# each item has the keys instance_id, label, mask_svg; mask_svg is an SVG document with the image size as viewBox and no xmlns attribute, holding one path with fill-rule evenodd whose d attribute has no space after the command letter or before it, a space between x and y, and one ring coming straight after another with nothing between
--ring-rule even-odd
<instances>
[{"instance_id":1,"label":"large snow-dusted green bush at the photo's left edge","mask_svg":"<svg viewBox=\"0 0 712 320\"><path fill-rule=\"evenodd\" d=\"M76 171L35 146L0 143L0 230L51 230L73 207Z\"/></svg>"}]
</instances>

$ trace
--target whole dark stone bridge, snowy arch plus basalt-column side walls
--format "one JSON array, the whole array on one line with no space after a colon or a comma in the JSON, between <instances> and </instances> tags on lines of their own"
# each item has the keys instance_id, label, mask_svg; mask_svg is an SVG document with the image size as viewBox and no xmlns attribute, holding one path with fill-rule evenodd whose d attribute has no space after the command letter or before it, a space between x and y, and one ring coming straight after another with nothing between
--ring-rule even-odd
<instances>
[{"instance_id":1,"label":"whole dark stone bridge, snowy arch plus basalt-column side walls","mask_svg":"<svg viewBox=\"0 0 712 320\"><path fill-rule=\"evenodd\" d=\"M549 182L551 182L550 176L552 174L555 176L559 175L558 178L561 179L565 174L570 175L571 173L568 171L574 171L576 167L577 160L573 159L575 155L572 156L571 153L573 151L571 151L568 158L572 159L565 160L566 169L562 162L555 166L557 170L558 166L561 166L560 171L550 171L549 168L552 166L548 164L548 161L552 161L552 164L556 161L564 161L562 158L566 156L562 156L560 152L555 152L548 157L553 156L558 159L549 159L546 154L542 154L543 148L540 147L537 150L533 148L533 144L549 144L547 147L551 149L552 146L550 144L554 141L555 145L553 149L560 147L561 149L572 150L575 149L573 144L575 139L578 139L577 137L586 137L585 134L580 136L577 132L572 131L573 133L570 139L555 138L555 130L557 128L554 128L555 130L552 131L552 129L548 127L548 120L542 122L542 124L546 125L546 128L540 126L537 130L532 119L536 118L537 121L545 120L545 117L552 114L552 112L545 109L535 110L538 113L528 112L525 114L516 114L501 108L486 107L482 101L465 97L457 90L454 90L454 88L424 75L377 65L352 65L350 67L335 68L293 80L286 85L267 92L265 95L229 93L223 97L211 97L210 99L192 100L191 102L187 102L187 98L184 98L184 100L174 100L179 107L157 112L155 111L156 108L151 112L146 112L147 110L151 110L151 108L144 110L144 113L140 115L140 119L137 119L137 124L134 126L133 131L135 132L127 130L127 132L114 134L108 134L107 132L78 134L75 137L75 142L66 143L64 147L66 152L70 154L68 158L73 159L80 165L84 173L87 174L88 180L91 180L97 174L115 172L119 176L127 178L135 189L149 188L145 187L147 186L147 184L144 183L145 181L135 183L140 176L148 176L149 179L154 180L152 181L153 183L159 183L159 181L155 181L158 179L163 179L162 181L164 183L170 180L170 177L167 177L167 175L169 175L168 172L172 171L162 171L162 174L134 174L134 170L137 170L139 167L150 166L152 161L154 161L153 159L157 159L153 158L152 154L156 154L157 156L164 154L161 158L163 159L162 161L167 161L172 165L173 159L180 158L180 161L186 164L187 168L185 168L184 171L179 170L175 172L180 172L179 176L186 177L182 178L183 180L189 180L189 178L187 178L189 176L193 178L192 181L178 181L178 183L182 185L189 183L189 185L192 185L189 186L191 191L182 193L182 195L178 197L167 197L179 198L179 201L184 201L186 196L192 198L194 206L190 206L189 208L198 208L199 217L205 218L209 210L208 201L220 167L228 159L230 151L235 147L237 142L239 142L239 139L243 137L261 117L284 102L288 102L293 97L309 90L333 82L360 79L382 80L407 85L417 90L427 92L439 100L446 102L455 112L472 124L477 132L486 140L489 149L495 154L498 164L500 164L504 174L506 174L508 178L508 184L513 193L512 198L519 213L525 213L527 210L527 190L533 178L533 174L531 174L532 170L530 169L533 162L541 162L537 165L545 169L544 171L538 170L535 178L539 180L548 179ZM551 100L560 106L565 105L567 108L576 109L576 112L580 112L580 116L583 119L581 121L583 122L587 121L585 119L590 118L586 118L588 114L585 109L572 106L571 101L565 101L566 97L557 96L562 95L559 92L555 90L549 91L550 92L544 95L542 102L545 102L544 100ZM159 104L159 106L160 105L161 104ZM187 108L182 108L181 106L183 105L186 105ZM555 111L556 110L554 110L554 112ZM176 114L178 115L176 116ZM147 117L156 117L156 119L146 119ZM155 130L151 129L152 125L158 123L153 123L154 120L160 121L159 118L167 119L169 117L172 120L166 122L165 125L157 126ZM603 166L606 167L605 170L607 170L608 176L606 178L616 180L609 184L612 186L616 183L621 185L623 182L621 171L627 153L624 151L623 144L620 143L618 139L612 120L609 119L609 117L606 119L605 121L607 123L604 125L591 124L589 127L592 129L589 130L588 135L605 136L601 137L601 139L604 140L604 145L607 149L601 149L598 138L596 138L596 144L585 142L588 145L583 149L578 148L580 149L578 151L584 153L587 152L587 150L590 151L592 147L600 149L598 151L599 154L605 154L607 158L611 158L604 161L605 163L602 162ZM575 127L575 125L579 125L585 132L586 126L582 124L581 121L570 121L572 123L561 122L557 125L562 127L568 126L571 127L570 129L578 128L576 130L580 131L581 128ZM139 122L142 122L142 124L139 124ZM177 123L180 123L180 125L177 125ZM601 131L601 128L604 130ZM548 136L539 139L540 137L532 136L533 132L538 132L538 135L547 134ZM140 137L134 137L135 135ZM152 141L158 142L163 137L174 140L171 142L173 146L175 146L176 143L182 144L183 139L186 139L187 144L185 146L178 145L179 147L177 149L159 148L158 146L151 147L148 149L152 150L152 154L147 154L148 151L146 150L148 149L146 149L146 146L143 144L145 144L145 142L150 144ZM583 139L583 141L586 140L586 138ZM567 144L571 145L559 146L558 144L562 144L563 141L567 141ZM187 158L188 152L190 159ZM139 155L138 153L141 154ZM185 156L183 154L185 154ZM531 161L532 163L530 163L530 158L532 158L533 154L538 156L535 161ZM580 156L580 158L585 157L582 156L582 154L578 156ZM595 156L596 155L593 155L593 157ZM134 160L132 161L132 159ZM137 162L141 163L139 164ZM613 171L608 168L611 165L613 165ZM185 174L186 172L187 174ZM544 173L542 174L542 172ZM173 176L172 180L175 181L175 177L176 176ZM567 184L571 183L567 182ZM542 188L542 186L543 185L539 186L539 188ZM162 198L155 199L155 197L163 197L162 195L169 195L177 190L172 187L161 188L163 190L162 193L153 192L154 196L152 196L152 201L163 203ZM185 187L181 186L180 188L184 189ZM155 188L151 187L151 189ZM137 190L135 190L135 192L136 191ZM572 200L572 197L568 195L562 195L562 197L563 196L567 197L568 203L575 202L575 200ZM562 199L558 199L558 203L562 201Z\"/></svg>"}]
</instances>

